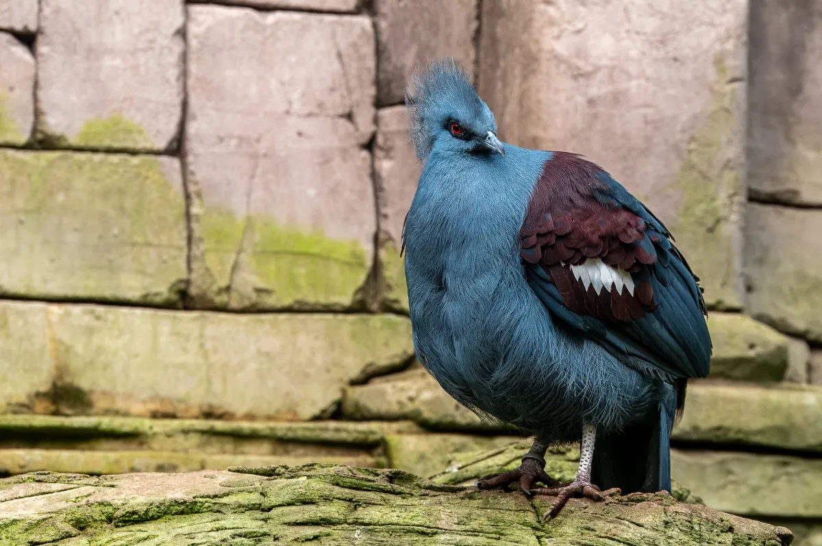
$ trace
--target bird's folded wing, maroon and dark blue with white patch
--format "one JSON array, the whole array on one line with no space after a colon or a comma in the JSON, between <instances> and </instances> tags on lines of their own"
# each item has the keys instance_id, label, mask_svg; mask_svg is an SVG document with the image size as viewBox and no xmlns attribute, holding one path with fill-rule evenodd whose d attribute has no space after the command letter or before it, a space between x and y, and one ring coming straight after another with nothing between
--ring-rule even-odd
<instances>
[{"instance_id":1,"label":"bird's folded wing, maroon and dark blue with white patch","mask_svg":"<svg viewBox=\"0 0 822 546\"><path fill-rule=\"evenodd\" d=\"M561 323L668 379L709 373L698 279L672 237L597 165L555 152L520 230L526 278Z\"/></svg>"}]
</instances>

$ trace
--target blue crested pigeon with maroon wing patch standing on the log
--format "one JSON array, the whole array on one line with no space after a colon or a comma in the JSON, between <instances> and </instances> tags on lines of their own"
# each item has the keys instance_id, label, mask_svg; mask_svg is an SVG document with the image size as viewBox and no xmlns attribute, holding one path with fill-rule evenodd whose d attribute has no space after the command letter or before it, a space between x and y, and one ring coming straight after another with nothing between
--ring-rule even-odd
<instances>
[{"instance_id":1,"label":"blue crested pigeon with maroon wing patch standing on the log","mask_svg":"<svg viewBox=\"0 0 822 546\"><path fill-rule=\"evenodd\" d=\"M418 359L460 404L536 439L519 482L568 498L671 490L670 436L712 351L699 279L663 223L578 154L496 137L453 60L406 95L423 171L403 245ZM576 479L545 472L580 441ZM541 482L552 489L534 489Z\"/></svg>"}]
</instances>

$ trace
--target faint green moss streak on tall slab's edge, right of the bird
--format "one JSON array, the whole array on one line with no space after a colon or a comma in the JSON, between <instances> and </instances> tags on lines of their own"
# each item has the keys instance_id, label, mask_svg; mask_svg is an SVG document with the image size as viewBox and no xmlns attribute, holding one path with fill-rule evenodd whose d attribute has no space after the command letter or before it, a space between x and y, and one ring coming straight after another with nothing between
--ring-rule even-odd
<instances>
[{"instance_id":1,"label":"faint green moss streak on tall slab's edge, right of the bird","mask_svg":"<svg viewBox=\"0 0 822 546\"><path fill-rule=\"evenodd\" d=\"M713 103L687 145L677 175L682 192L677 222L670 226L690 266L702 278L705 300L724 309L741 307L735 239L741 214L742 181L739 84L729 83L723 57L714 57Z\"/></svg>"}]
</instances>

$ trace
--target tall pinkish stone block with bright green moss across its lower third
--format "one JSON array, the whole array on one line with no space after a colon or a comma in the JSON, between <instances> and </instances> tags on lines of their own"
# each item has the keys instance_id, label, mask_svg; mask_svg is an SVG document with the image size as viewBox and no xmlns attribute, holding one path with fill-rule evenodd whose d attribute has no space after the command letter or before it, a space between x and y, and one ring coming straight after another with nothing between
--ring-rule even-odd
<instances>
[{"instance_id":1,"label":"tall pinkish stone block with bright green moss across its lower third","mask_svg":"<svg viewBox=\"0 0 822 546\"><path fill-rule=\"evenodd\" d=\"M374 253L366 16L192 6L192 294L232 309L362 307Z\"/></svg>"}]
</instances>

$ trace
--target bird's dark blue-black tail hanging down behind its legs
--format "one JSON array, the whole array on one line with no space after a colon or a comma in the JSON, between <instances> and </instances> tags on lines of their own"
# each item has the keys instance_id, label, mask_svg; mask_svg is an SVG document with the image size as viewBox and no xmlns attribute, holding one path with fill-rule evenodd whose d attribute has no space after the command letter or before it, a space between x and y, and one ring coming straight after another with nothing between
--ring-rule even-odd
<instances>
[{"instance_id":1,"label":"bird's dark blue-black tail hanging down behind its legs","mask_svg":"<svg viewBox=\"0 0 822 546\"><path fill-rule=\"evenodd\" d=\"M659 401L649 418L613 434L597 433L591 482L603 491L618 487L622 494L671 492L671 429L677 412L677 392Z\"/></svg>"}]
</instances>

